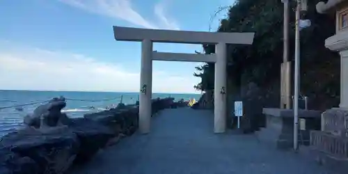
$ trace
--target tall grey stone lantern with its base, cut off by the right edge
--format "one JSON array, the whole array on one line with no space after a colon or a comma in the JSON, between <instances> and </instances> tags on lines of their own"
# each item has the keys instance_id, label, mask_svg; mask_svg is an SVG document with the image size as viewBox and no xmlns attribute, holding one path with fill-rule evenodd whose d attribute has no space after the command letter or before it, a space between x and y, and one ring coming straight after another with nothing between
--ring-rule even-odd
<instances>
[{"instance_id":1,"label":"tall grey stone lantern with its base, cut off by the right edge","mask_svg":"<svg viewBox=\"0 0 348 174\"><path fill-rule=\"evenodd\" d=\"M310 132L310 145L319 151L320 163L329 159L348 160L348 0L317 3L318 13L335 14L335 35L325 40L325 47L341 56L340 107L322 113L322 131ZM324 28L323 28L324 29ZM327 162L327 164L330 164ZM336 165L338 168L338 166ZM340 165L348 171L347 162Z\"/></svg>"}]
</instances>

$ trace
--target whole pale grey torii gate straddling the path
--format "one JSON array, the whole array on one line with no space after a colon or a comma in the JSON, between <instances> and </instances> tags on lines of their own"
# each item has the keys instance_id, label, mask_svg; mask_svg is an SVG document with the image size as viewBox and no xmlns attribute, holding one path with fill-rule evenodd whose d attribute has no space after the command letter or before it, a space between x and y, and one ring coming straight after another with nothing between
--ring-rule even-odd
<instances>
[{"instance_id":1,"label":"whole pale grey torii gate straddling the path","mask_svg":"<svg viewBox=\"0 0 348 174\"><path fill-rule=\"evenodd\" d=\"M139 130L150 132L152 97L152 61L192 61L215 63L214 132L226 130L226 44L251 45L255 33L219 33L136 29L113 26L116 40L141 42L141 93L139 96ZM216 45L216 54L154 52L152 42Z\"/></svg>"}]
</instances>

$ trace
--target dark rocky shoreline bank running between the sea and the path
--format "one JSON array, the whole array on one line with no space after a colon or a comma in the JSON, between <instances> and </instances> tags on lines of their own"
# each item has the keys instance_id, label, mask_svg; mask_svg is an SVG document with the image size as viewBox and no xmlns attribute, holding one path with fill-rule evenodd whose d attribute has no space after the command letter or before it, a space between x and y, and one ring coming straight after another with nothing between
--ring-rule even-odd
<instances>
[{"instance_id":1,"label":"dark rocky shoreline bank running between the sea and the path","mask_svg":"<svg viewBox=\"0 0 348 174\"><path fill-rule=\"evenodd\" d=\"M152 116L162 109L187 106L174 98L152 100ZM65 173L81 165L100 149L116 144L138 129L139 106L119 104L109 111L66 118L54 131L19 129L0 139L1 174Z\"/></svg>"}]
</instances>

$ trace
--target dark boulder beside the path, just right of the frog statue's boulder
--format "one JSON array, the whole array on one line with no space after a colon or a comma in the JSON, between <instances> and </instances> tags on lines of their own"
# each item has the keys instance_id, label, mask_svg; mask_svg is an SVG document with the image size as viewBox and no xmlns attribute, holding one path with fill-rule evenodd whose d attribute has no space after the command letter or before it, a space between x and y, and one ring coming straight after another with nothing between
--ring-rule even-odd
<instances>
[{"instance_id":1,"label":"dark boulder beside the path, just right of the frog statue's boulder","mask_svg":"<svg viewBox=\"0 0 348 174\"><path fill-rule=\"evenodd\" d=\"M80 148L75 159L76 164L88 161L115 136L109 127L86 118L73 118L65 124L79 139Z\"/></svg>"}]
</instances>

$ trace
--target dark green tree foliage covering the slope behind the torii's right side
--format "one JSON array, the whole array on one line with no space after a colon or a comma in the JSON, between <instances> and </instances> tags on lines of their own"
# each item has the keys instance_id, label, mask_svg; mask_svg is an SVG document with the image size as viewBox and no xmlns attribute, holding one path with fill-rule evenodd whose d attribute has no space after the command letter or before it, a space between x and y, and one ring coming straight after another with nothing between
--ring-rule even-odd
<instances>
[{"instance_id":1,"label":"dark green tree foliage covering the slope behind the torii's right side","mask_svg":"<svg viewBox=\"0 0 348 174\"><path fill-rule=\"evenodd\" d=\"M335 33L334 15L315 10L319 0L308 1L302 19L312 25L301 31L301 93L310 97L337 97L340 83L340 59L324 47L324 40ZM294 2L290 5L290 61L294 62ZM228 45L228 80L240 87L253 81L267 86L280 80L283 62L283 3L279 0L239 0L222 19L219 32L255 32L253 45ZM203 45L205 54L214 53L214 45ZM294 65L294 63L292 63ZM214 88L214 65L200 68L202 81L196 88Z\"/></svg>"}]
</instances>

